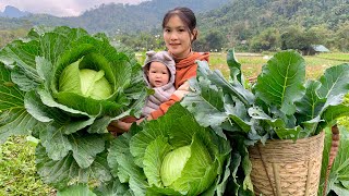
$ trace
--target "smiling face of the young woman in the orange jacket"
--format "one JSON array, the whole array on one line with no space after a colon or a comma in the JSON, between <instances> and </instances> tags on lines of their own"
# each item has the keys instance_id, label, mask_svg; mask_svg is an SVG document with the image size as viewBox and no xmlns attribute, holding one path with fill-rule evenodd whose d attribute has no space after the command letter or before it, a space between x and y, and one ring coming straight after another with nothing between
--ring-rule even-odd
<instances>
[{"instance_id":1,"label":"smiling face of the young woman in the orange jacket","mask_svg":"<svg viewBox=\"0 0 349 196\"><path fill-rule=\"evenodd\" d=\"M164 28L164 40L167 49L176 58L184 58L191 51L193 35L178 15L173 15Z\"/></svg>"}]
</instances>

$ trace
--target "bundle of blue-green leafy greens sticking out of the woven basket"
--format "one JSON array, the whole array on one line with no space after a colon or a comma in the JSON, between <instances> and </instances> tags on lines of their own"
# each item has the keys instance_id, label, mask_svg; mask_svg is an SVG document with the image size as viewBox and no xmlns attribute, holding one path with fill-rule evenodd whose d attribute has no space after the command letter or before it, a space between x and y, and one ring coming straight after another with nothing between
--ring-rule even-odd
<instances>
[{"instance_id":1,"label":"bundle of blue-green leafy greens sticking out of the woven basket","mask_svg":"<svg viewBox=\"0 0 349 196\"><path fill-rule=\"evenodd\" d=\"M192 93L181 105L201 125L231 142L232 155L239 158L232 162L240 171L240 177L232 175L230 181L236 195L253 192L248 146L317 135L349 115L344 102L349 91L348 63L326 69L318 79L305 81L304 59L297 51L280 51L262 68L251 89L245 87L233 50L227 57L229 79L209 70L207 62L197 63L197 76L190 79Z\"/></svg>"}]
</instances>

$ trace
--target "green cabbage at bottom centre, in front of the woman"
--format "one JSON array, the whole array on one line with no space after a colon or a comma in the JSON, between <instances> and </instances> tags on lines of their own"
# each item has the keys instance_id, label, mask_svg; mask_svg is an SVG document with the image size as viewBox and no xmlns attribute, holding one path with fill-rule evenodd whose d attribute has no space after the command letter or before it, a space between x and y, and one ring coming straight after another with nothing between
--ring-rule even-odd
<instances>
[{"instance_id":1,"label":"green cabbage at bottom centre, in front of the woman","mask_svg":"<svg viewBox=\"0 0 349 196\"><path fill-rule=\"evenodd\" d=\"M133 195L222 195L230 151L228 140L176 103L158 120L118 137L108 162Z\"/></svg>"}]
</instances>

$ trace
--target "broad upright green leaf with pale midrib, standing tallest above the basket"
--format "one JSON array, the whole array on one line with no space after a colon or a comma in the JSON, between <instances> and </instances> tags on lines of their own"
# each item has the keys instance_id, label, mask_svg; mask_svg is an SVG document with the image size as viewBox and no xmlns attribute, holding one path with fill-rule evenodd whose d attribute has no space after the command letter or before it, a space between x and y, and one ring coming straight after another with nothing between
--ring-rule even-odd
<instances>
[{"instance_id":1,"label":"broad upright green leaf with pale midrib, standing tallest above the basket","mask_svg":"<svg viewBox=\"0 0 349 196\"><path fill-rule=\"evenodd\" d=\"M281 51L263 66L254 86L255 96L290 115L296 112L293 102L305 93L304 82L304 59L297 51Z\"/></svg>"}]
</instances>

